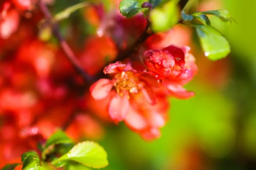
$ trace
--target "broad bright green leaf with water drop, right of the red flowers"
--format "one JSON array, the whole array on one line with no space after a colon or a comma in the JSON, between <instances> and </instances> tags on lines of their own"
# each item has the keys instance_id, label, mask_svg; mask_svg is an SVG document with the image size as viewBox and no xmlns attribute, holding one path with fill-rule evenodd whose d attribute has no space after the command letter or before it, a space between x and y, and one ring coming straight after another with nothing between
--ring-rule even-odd
<instances>
[{"instance_id":1,"label":"broad bright green leaf with water drop, right of the red flowers","mask_svg":"<svg viewBox=\"0 0 256 170\"><path fill-rule=\"evenodd\" d=\"M230 46L227 39L214 28L206 25L195 25L205 56L218 60L227 56Z\"/></svg>"}]
</instances>

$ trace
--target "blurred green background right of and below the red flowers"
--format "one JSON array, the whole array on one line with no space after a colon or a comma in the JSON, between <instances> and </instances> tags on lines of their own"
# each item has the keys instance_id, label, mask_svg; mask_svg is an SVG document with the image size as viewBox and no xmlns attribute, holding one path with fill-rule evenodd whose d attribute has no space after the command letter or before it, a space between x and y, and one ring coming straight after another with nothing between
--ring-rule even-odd
<instances>
[{"instance_id":1,"label":"blurred green background right of and below the red flowers","mask_svg":"<svg viewBox=\"0 0 256 170\"><path fill-rule=\"evenodd\" d=\"M235 19L212 18L232 52L217 62L195 54L198 74L187 88L196 97L170 99L159 139L144 141L123 124L109 127L98 141L110 162L104 170L256 170L256 1L206 4L212 10L222 5Z\"/></svg>"}]
</instances>

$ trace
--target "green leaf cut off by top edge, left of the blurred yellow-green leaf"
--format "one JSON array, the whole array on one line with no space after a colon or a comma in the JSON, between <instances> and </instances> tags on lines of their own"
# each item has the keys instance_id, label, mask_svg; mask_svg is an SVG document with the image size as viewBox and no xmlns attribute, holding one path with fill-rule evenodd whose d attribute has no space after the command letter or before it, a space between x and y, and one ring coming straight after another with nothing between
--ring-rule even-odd
<instances>
[{"instance_id":1,"label":"green leaf cut off by top edge, left of the blurred yellow-green leaf","mask_svg":"<svg viewBox=\"0 0 256 170\"><path fill-rule=\"evenodd\" d=\"M123 16L133 17L139 12L146 12L148 8L141 8L141 4L137 0L122 0L119 10Z\"/></svg>"}]
</instances>

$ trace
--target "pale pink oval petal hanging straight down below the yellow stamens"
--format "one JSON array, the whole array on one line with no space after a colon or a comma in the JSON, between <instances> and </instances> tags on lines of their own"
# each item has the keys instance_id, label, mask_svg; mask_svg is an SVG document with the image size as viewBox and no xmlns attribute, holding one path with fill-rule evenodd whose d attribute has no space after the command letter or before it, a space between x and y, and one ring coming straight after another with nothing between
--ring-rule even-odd
<instances>
[{"instance_id":1,"label":"pale pink oval petal hanging straight down below the yellow stamens","mask_svg":"<svg viewBox=\"0 0 256 170\"><path fill-rule=\"evenodd\" d=\"M128 112L129 106L129 100L126 95L123 97L119 96L118 94L115 95L111 99L108 107L110 118L116 123L122 121Z\"/></svg>"}]
</instances>

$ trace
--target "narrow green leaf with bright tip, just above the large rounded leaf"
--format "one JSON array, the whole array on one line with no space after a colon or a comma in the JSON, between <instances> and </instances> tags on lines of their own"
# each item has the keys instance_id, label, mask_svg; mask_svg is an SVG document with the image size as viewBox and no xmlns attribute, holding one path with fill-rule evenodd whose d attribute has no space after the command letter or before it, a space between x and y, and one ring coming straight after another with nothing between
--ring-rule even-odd
<instances>
[{"instance_id":1,"label":"narrow green leaf with bright tip, just above the large rounded leaf","mask_svg":"<svg viewBox=\"0 0 256 170\"><path fill-rule=\"evenodd\" d=\"M213 11L203 11L203 12L196 12L194 14L192 14L193 16L198 16L198 15L214 15L216 17L219 17L222 21L224 22L231 22L233 19L230 15L230 13L225 10L225 9L221 9L221 10L213 10Z\"/></svg>"}]
</instances>

